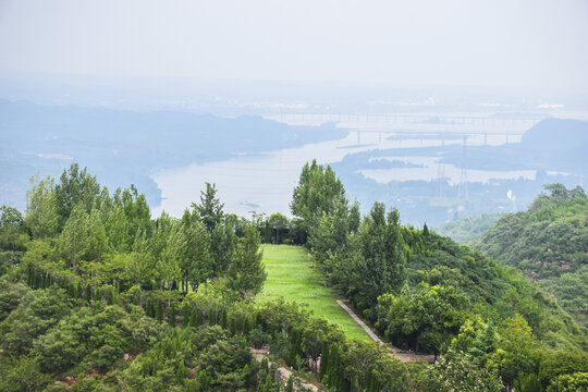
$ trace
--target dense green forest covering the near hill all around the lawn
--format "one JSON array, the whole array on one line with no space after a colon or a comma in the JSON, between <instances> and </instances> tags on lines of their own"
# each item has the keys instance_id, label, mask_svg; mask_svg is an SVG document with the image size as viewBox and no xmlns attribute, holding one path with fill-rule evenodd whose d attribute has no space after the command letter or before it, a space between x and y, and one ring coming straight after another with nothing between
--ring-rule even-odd
<instances>
[{"instance_id":1,"label":"dense green forest covering the near hill all around the lawn","mask_svg":"<svg viewBox=\"0 0 588 392\"><path fill-rule=\"evenodd\" d=\"M33 179L25 215L0 218L0 390L588 388L587 330L552 295L394 208L362 217L329 167L303 168L292 220L229 215L216 194L154 220L134 186L111 194L77 164ZM287 298L257 304L260 242L311 249L385 339L438 360L402 363Z\"/></svg>"}]
</instances>

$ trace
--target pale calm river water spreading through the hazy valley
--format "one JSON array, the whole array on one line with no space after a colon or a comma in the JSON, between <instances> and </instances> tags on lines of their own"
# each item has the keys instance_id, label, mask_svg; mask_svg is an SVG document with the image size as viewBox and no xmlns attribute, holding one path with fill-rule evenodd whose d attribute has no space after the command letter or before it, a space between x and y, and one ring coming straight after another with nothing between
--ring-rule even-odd
<instances>
[{"instance_id":1,"label":"pale calm river water spreading through the hazy valley","mask_svg":"<svg viewBox=\"0 0 588 392\"><path fill-rule=\"evenodd\" d=\"M372 149L429 147L462 144L462 133L467 133L466 144L501 145L517 143L523 133L539 119L476 118L471 113L453 117L437 117L427 113L421 117L402 115L326 115L294 114L267 117L289 124L318 125L327 121L338 122L338 126L351 130L340 140L322 142L301 148L270 151L262 155L243 154L232 159L192 164L172 170L160 170L151 177L161 189L162 203L154 209L154 215L166 210L181 217L193 201L199 201L200 191L206 182L217 184L224 210L249 217L252 211L289 215L289 203L305 162L317 159L319 163L339 162L347 154ZM439 135L457 134L444 142ZM486 136L485 136L486 133ZM389 138L389 136L393 136ZM438 176L439 164L434 157L388 157L424 166L422 168L363 170L362 174L381 183L392 180L431 180ZM460 181L461 168L445 164L445 176L452 183ZM487 182L490 179L534 179L535 171L474 171L468 170L470 182Z\"/></svg>"}]
</instances>

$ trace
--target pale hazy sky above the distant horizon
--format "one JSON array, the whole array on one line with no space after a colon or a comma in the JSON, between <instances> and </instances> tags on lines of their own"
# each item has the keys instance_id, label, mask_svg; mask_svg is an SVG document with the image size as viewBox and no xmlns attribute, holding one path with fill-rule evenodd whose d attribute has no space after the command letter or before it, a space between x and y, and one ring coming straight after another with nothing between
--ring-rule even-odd
<instances>
[{"instance_id":1,"label":"pale hazy sky above the distant horizon","mask_svg":"<svg viewBox=\"0 0 588 392\"><path fill-rule=\"evenodd\" d=\"M588 1L0 0L0 71L588 90Z\"/></svg>"}]
</instances>

